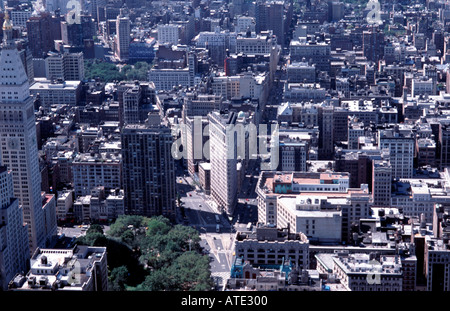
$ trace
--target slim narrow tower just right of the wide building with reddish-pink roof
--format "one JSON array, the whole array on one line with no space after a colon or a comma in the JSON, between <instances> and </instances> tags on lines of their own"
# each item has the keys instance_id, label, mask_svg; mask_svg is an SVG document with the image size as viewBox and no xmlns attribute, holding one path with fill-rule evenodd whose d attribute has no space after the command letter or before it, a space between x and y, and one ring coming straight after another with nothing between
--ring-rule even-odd
<instances>
[{"instance_id":1,"label":"slim narrow tower just right of the wide building with reddish-pink roof","mask_svg":"<svg viewBox=\"0 0 450 311\"><path fill-rule=\"evenodd\" d=\"M372 197L374 206L391 206L392 167L388 161L373 161Z\"/></svg>"}]
</instances>

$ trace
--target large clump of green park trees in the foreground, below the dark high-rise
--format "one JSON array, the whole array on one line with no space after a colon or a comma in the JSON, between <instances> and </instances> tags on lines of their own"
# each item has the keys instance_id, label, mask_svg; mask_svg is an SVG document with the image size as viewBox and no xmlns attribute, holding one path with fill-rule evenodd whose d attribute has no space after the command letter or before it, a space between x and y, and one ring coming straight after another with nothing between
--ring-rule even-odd
<instances>
[{"instance_id":1,"label":"large clump of green park trees in the foreground, below the dark high-rise","mask_svg":"<svg viewBox=\"0 0 450 311\"><path fill-rule=\"evenodd\" d=\"M76 243L106 247L111 291L208 291L214 286L198 231L163 216L122 215L106 233L91 225Z\"/></svg>"}]
</instances>

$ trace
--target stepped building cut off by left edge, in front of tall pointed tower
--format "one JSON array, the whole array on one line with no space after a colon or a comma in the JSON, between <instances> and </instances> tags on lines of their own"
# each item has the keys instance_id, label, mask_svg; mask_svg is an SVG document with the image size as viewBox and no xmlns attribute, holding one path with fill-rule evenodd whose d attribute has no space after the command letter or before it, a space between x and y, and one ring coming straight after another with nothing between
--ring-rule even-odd
<instances>
[{"instance_id":1,"label":"stepped building cut off by left edge, in front of tall pointed tower","mask_svg":"<svg viewBox=\"0 0 450 311\"><path fill-rule=\"evenodd\" d=\"M0 166L0 291L16 273L27 270L30 250L19 200L14 198L11 172Z\"/></svg>"}]
</instances>

